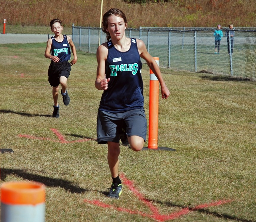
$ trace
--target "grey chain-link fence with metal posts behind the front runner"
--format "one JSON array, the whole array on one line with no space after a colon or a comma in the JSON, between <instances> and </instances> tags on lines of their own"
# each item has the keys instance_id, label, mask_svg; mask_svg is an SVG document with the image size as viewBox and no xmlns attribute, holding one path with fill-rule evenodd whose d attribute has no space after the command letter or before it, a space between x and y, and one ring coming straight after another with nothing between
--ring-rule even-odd
<instances>
[{"instance_id":1,"label":"grey chain-link fence with metal posts behind the front runner","mask_svg":"<svg viewBox=\"0 0 256 222\"><path fill-rule=\"evenodd\" d=\"M148 52L159 57L159 66L193 72L208 72L256 80L256 28L223 28L219 53L215 54L216 28L126 29L126 36L144 41ZM76 48L96 53L107 41L100 28L72 28ZM231 49L230 53L229 49Z\"/></svg>"}]
</instances>

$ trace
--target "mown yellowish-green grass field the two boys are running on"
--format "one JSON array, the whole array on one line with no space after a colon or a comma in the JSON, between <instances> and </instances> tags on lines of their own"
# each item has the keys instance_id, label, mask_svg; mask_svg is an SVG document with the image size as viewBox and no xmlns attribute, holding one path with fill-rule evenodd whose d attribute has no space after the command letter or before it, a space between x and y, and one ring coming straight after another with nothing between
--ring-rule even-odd
<instances>
[{"instance_id":1,"label":"mown yellowish-green grass field the two boys are running on","mask_svg":"<svg viewBox=\"0 0 256 222\"><path fill-rule=\"evenodd\" d=\"M158 146L176 151L121 146L123 193L113 200L107 147L95 141L95 54L78 52L71 103L60 98L55 119L45 44L0 48L0 149L14 151L0 153L0 184L44 183L47 222L256 221L255 82L161 68L171 95L159 100ZM142 75L148 117L145 64Z\"/></svg>"}]
</instances>

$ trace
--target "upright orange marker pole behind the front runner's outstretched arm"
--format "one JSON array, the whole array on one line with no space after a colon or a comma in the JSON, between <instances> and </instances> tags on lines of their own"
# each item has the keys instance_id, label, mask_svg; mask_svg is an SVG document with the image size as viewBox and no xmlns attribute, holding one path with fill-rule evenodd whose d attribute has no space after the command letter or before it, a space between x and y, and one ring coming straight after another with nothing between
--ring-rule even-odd
<instances>
[{"instance_id":1,"label":"upright orange marker pole behind the front runner's outstretched arm","mask_svg":"<svg viewBox=\"0 0 256 222\"><path fill-rule=\"evenodd\" d=\"M153 57L159 65L159 58ZM149 125L148 125L148 148L157 149L158 137L158 103L159 103L159 81L150 69L149 82Z\"/></svg>"}]
</instances>

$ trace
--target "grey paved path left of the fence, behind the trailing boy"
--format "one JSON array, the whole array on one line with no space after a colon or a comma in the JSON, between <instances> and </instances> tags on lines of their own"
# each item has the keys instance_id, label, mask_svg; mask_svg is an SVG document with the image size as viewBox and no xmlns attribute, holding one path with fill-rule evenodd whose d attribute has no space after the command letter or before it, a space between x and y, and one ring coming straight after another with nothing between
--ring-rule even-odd
<instances>
[{"instance_id":1,"label":"grey paved path left of the fence, behind the trailing boy","mask_svg":"<svg viewBox=\"0 0 256 222\"><path fill-rule=\"evenodd\" d=\"M51 37L50 34L49 37ZM69 35L72 38L72 35ZM6 43L39 43L47 42L48 34L0 34L0 44Z\"/></svg>"}]
</instances>

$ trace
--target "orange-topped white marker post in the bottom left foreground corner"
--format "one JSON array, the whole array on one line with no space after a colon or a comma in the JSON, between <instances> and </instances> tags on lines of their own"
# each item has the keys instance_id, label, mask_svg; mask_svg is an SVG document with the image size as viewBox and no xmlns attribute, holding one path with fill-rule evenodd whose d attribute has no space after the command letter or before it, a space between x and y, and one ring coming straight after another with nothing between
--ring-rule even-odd
<instances>
[{"instance_id":1,"label":"orange-topped white marker post in the bottom left foreground corner","mask_svg":"<svg viewBox=\"0 0 256 222\"><path fill-rule=\"evenodd\" d=\"M0 186L1 222L44 222L45 186L36 182L6 182Z\"/></svg>"}]
</instances>

